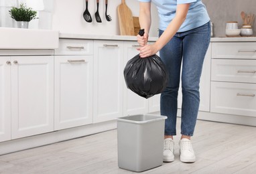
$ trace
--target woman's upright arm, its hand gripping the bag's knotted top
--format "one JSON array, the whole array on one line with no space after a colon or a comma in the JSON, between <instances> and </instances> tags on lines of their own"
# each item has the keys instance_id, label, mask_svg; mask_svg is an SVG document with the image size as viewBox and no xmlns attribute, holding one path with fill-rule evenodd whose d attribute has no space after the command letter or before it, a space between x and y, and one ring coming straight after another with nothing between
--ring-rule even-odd
<instances>
[{"instance_id":1,"label":"woman's upright arm, its hand gripping the bag's knotted top","mask_svg":"<svg viewBox=\"0 0 256 174\"><path fill-rule=\"evenodd\" d=\"M147 39L149 37L149 29L151 25L151 3L139 3L139 25L141 28L145 29L145 34L143 36L137 35L137 41L140 46L145 46L147 44Z\"/></svg>"}]
</instances>

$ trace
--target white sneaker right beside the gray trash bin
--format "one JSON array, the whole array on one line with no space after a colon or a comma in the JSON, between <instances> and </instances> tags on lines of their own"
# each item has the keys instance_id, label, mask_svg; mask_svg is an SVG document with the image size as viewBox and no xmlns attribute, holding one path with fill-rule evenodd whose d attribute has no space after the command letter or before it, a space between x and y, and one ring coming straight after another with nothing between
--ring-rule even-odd
<instances>
[{"instance_id":1,"label":"white sneaker right beside the gray trash bin","mask_svg":"<svg viewBox=\"0 0 256 174\"><path fill-rule=\"evenodd\" d=\"M164 162L174 161L174 141L171 138L164 139Z\"/></svg>"}]
</instances>

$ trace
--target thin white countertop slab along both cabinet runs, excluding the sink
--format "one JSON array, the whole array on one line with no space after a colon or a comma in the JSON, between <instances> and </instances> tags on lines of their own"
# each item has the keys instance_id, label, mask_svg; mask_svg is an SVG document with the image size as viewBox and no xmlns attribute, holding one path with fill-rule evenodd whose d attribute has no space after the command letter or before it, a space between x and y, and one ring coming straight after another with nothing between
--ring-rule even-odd
<instances>
[{"instance_id":1,"label":"thin white countertop slab along both cabinet runs, excluding the sink","mask_svg":"<svg viewBox=\"0 0 256 174\"><path fill-rule=\"evenodd\" d=\"M60 33L60 39L99 39L99 40L125 40L136 41L131 35L88 35L76 33ZM149 37L149 41L156 41L158 37ZM256 41L256 37L211 37L210 41Z\"/></svg>"}]
</instances>

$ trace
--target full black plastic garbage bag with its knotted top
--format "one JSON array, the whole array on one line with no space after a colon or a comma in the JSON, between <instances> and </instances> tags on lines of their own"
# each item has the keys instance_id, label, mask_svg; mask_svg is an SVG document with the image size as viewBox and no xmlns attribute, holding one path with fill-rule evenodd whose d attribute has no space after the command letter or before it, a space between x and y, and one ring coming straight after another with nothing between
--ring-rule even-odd
<instances>
[{"instance_id":1,"label":"full black plastic garbage bag with its knotted top","mask_svg":"<svg viewBox=\"0 0 256 174\"><path fill-rule=\"evenodd\" d=\"M139 35L144 35L144 29ZM161 93L168 83L166 68L157 55L140 58L138 54L127 62L124 76L127 88L144 98Z\"/></svg>"}]
</instances>

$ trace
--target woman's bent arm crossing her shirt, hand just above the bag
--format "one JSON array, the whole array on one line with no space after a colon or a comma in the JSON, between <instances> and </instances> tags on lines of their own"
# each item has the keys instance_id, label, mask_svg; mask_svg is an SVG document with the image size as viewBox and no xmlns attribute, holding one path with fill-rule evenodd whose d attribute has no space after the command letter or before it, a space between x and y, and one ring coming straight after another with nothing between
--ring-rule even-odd
<instances>
[{"instance_id":1,"label":"woman's bent arm crossing her shirt, hand just above the bag","mask_svg":"<svg viewBox=\"0 0 256 174\"><path fill-rule=\"evenodd\" d=\"M155 41L153 45L145 45L139 48L139 56L141 56L141 58L146 58L148 56L156 54L166 45L166 43L168 43L168 41L170 41L170 39L172 39L178 29L180 29L182 23L185 21L189 7L189 3L177 5L176 16L174 17L174 19L172 19L172 21L166 28L166 31L162 33L162 35L157 39L157 41Z\"/></svg>"}]
</instances>

